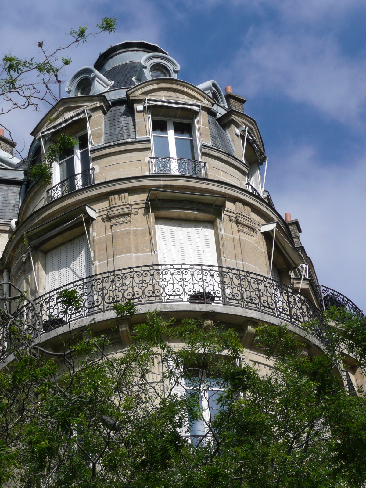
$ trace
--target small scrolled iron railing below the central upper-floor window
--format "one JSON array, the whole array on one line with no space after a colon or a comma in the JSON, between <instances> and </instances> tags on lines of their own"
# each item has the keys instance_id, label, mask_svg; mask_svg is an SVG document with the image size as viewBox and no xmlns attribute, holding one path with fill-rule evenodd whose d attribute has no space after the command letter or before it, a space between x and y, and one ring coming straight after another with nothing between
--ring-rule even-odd
<instances>
[{"instance_id":1,"label":"small scrolled iron railing below the central upper-floor window","mask_svg":"<svg viewBox=\"0 0 366 488\"><path fill-rule=\"evenodd\" d=\"M183 158L149 158L151 173L201 176L207 178L206 163Z\"/></svg>"}]
</instances>

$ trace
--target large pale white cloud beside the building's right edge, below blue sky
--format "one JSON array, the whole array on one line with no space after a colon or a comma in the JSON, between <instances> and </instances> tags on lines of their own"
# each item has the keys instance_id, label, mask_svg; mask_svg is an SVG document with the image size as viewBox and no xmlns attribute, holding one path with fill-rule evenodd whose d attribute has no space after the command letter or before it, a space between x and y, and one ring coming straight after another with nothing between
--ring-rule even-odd
<instances>
[{"instance_id":1,"label":"large pale white cloud beside the building's right edge, below blue sky","mask_svg":"<svg viewBox=\"0 0 366 488\"><path fill-rule=\"evenodd\" d=\"M312 146L283 148L269 160L266 182L281 215L299 219L319 282L366 311L366 156L329 167Z\"/></svg>"}]
</instances>

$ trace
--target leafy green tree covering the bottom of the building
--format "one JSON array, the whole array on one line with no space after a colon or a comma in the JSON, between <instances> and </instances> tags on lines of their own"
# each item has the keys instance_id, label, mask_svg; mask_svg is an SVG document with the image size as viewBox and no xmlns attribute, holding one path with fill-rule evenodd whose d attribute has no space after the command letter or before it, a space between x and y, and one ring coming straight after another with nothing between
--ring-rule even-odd
<instances>
[{"instance_id":1,"label":"leafy green tree covering the bottom of the building","mask_svg":"<svg viewBox=\"0 0 366 488\"><path fill-rule=\"evenodd\" d=\"M75 290L62 293L66 317L82 301ZM23 303L24 295L11 300ZM76 341L70 333L55 352L39 343L41 318L25 328L21 309L12 310L1 317L14 354L0 371L2 483L365 485L365 394L349 394L339 373L350 355L365 371L365 317L325 314L324 351L314 357L285 325L259 326L255 346L272 365L262 376L224 325L163 322L154 311L123 350L106 335ZM122 321L137 312L131 302L115 311Z\"/></svg>"}]
</instances>

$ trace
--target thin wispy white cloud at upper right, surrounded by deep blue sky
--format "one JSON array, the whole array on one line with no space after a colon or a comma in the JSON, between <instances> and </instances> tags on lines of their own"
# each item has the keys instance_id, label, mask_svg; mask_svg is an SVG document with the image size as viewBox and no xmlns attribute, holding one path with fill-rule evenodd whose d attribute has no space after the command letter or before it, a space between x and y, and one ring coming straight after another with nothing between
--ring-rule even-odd
<instances>
[{"instance_id":1,"label":"thin wispy white cloud at upper right, surrounded by deep blue sky","mask_svg":"<svg viewBox=\"0 0 366 488\"><path fill-rule=\"evenodd\" d=\"M247 97L285 96L353 125L365 110L366 59L347 58L331 37L251 31L226 71Z\"/></svg>"}]
</instances>

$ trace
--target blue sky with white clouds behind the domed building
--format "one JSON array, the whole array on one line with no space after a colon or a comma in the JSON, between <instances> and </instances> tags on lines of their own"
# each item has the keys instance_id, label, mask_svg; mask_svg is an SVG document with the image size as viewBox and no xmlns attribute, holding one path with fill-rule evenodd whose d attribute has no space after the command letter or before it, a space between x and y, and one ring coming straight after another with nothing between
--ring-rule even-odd
<instances>
[{"instance_id":1,"label":"blue sky with white clouds behind the domed building","mask_svg":"<svg viewBox=\"0 0 366 488\"><path fill-rule=\"evenodd\" d=\"M178 61L180 79L231 85L264 140L265 188L299 220L319 282L366 312L366 2L13 0L1 5L0 50L37 59L38 41L65 45L71 27L111 16L115 33L67 53L66 80L110 44L143 39ZM25 152L41 116L4 120Z\"/></svg>"}]
</instances>

